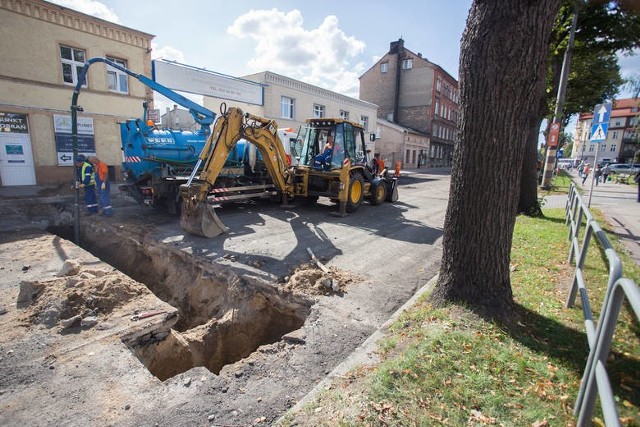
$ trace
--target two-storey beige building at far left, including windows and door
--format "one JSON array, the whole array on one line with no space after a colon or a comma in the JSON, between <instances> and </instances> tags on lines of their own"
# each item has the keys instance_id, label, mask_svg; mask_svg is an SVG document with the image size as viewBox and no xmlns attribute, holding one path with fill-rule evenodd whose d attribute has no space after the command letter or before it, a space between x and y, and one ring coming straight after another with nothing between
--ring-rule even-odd
<instances>
[{"instance_id":1,"label":"two-storey beige building at far left, including windows and door","mask_svg":"<svg viewBox=\"0 0 640 427\"><path fill-rule=\"evenodd\" d=\"M42 0L0 0L0 28L0 185L71 180L70 106L84 62L106 57L150 75L154 36ZM79 96L79 151L118 172L117 123L141 117L152 100L137 80L93 65Z\"/></svg>"}]
</instances>

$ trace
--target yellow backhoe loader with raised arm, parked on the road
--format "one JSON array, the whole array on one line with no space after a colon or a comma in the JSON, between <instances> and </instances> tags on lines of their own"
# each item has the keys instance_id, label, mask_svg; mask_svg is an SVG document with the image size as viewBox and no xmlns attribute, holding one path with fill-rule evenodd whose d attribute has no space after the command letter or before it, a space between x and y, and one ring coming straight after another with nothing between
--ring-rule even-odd
<instances>
[{"instance_id":1,"label":"yellow backhoe loader with raised arm, parked on the road","mask_svg":"<svg viewBox=\"0 0 640 427\"><path fill-rule=\"evenodd\" d=\"M274 120L229 108L216 121L194 173L180 187L180 225L186 232L203 237L228 232L208 201L215 200L210 193L216 178L241 138L257 147L284 204L290 199L313 204L328 197L339 203L338 214L346 215L365 198L373 205L398 198L397 177L386 170L374 173L369 165L361 125L342 119L306 120L297 138L300 158L290 166Z\"/></svg>"}]
</instances>

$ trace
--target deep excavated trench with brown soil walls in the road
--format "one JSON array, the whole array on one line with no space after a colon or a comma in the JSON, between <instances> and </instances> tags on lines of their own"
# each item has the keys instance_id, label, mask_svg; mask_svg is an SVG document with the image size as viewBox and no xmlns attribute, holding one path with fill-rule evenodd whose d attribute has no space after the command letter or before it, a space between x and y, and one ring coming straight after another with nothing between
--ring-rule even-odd
<instances>
[{"instance_id":1,"label":"deep excavated trench with brown soil walls in the road","mask_svg":"<svg viewBox=\"0 0 640 427\"><path fill-rule=\"evenodd\" d=\"M71 226L50 226L48 231L72 240ZM85 250L179 309L168 335L148 335L130 344L160 380L196 366L218 374L225 365L299 329L309 315L308 298L145 240L143 233L85 223L81 235Z\"/></svg>"}]
</instances>

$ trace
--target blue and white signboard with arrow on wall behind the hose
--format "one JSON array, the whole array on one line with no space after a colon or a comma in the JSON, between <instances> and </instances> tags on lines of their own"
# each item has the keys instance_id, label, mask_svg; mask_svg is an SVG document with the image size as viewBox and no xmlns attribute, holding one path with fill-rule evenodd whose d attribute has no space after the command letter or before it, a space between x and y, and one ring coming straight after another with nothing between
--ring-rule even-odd
<instances>
[{"instance_id":1,"label":"blue and white signboard with arrow on wall behind the hose","mask_svg":"<svg viewBox=\"0 0 640 427\"><path fill-rule=\"evenodd\" d=\"M73 166L73 138L71 116L53 115L53 134L56 140L58 166ZM78 154L96 155L96 139L91 117L78 117Z\"/></svg>"}]
</instances>

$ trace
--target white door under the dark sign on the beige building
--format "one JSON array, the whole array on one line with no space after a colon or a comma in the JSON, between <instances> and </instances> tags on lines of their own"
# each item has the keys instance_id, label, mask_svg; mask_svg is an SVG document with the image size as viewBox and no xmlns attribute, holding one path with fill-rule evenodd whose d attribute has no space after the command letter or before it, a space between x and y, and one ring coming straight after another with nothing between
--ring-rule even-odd
<instances>
[{"instance_id":1,"label":"white door under the dark sign on the beige building","mask_svg":"<svg viewBox=\"0 0 640 427\"><path fill-rule=\"evenodd\" d=\"M28 133L0 132L2 185L35 185L36 173Z\"/></svg>"}]
</instances>

